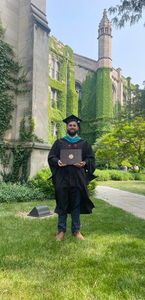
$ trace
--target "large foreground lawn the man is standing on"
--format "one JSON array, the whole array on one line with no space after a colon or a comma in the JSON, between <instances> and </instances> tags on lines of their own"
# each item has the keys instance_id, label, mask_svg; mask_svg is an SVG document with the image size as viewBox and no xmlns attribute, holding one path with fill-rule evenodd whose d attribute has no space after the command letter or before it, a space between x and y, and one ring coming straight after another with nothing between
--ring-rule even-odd
<instances>
[{"instance_id":1,"label":"large foreground lawn the man is standing on","mask_svg":"<svg viewBox=\"0 0 145 300\"><path fill-rule=\"evenodd\" d=\"M71 219L55 241L57 215L28 218L55 201L0 205L0 300L145 300L145 220L92 198L81 215L84 241Z\"/></svg>"}]
</instances>

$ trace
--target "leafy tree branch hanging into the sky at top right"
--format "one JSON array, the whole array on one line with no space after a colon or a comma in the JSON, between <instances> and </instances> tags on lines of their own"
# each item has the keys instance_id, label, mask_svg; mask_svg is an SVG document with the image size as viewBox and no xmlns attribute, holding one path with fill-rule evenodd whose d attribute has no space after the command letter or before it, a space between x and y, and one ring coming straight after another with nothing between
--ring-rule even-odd
<instances>
[{"instance_id":1,"label":"leafy tree branch hanging into the sky at top right","mask_svg":"<svg viewBox=\"0 0 145 300\"><path fill-rule=\"evenodd\" d=\"M120 0L122 4L111 6L108 9L110 14L116 14L112 19L116 28L121 29L125 23L130 21L130 25L138 23L142 18L143 10L145 9L145 0ZM145 26L145 24L144 24Z\"/></svg>"}]
</instances>

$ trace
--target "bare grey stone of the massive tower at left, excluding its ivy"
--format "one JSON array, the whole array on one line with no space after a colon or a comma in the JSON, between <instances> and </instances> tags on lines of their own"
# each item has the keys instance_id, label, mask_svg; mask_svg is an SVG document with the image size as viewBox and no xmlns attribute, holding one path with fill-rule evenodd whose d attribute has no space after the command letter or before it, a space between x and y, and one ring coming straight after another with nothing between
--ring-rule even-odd
<instances>
[{"instance_id":1,"label":"bare grey stone of the massive tower at left, excluding its ivy","mask_svg":"<svg viewBox=\"0 0 145 300\"><path fill-rule=\"evenodd\" d=\"M7 130L5 141L19 141L19 125L25 115L32 115L35 134L44 143L35 143L29 159L29 175L35 175L47 165L48 118L48 46L49 33L46 19L46 0L0 0L0 18L6 28L5 41L13 46L15 57L28 71L30 92L14 95L16 109L13 112L12 128ZM27 147L31 147L29 143Z\"/></svg>"}]
</instances>

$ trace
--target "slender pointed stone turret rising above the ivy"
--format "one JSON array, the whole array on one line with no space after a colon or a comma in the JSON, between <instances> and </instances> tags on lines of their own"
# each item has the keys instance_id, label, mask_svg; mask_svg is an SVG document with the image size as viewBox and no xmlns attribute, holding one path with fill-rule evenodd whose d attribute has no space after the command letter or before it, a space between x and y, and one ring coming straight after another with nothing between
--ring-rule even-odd
<instances>
[{"instance_id":1,"label":"slender pointed stone turret rising above the ivy","mask_svg":"<svg viewBox=\"0 0 145 300\"><path fill-rule=\"evenodd\" d=\"M111 59L111 22L107 18L106 9L104 9L102 20L98 30L98 69L101 67L112 68Z\"/></svg>"}]
</instances>

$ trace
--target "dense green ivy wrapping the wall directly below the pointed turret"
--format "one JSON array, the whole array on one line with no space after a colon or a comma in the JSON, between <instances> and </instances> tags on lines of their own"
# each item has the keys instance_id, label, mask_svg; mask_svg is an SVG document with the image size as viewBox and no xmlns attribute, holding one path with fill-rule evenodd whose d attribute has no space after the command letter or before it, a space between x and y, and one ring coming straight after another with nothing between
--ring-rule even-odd
<instances>
[{"instance_id":1,"label":"dense green ivy wrapping the wall directly below the pointed turret","mask_svg":"<svg viewBox=\"0 0 145 300\"><path fill-rule=\"evenodd\" d=\"M97 138L111 131L113 118L112 81L110 68L89 72L82 84L79 103L82 137L93 144Z\"/></svg>"}]
</instances>

